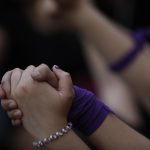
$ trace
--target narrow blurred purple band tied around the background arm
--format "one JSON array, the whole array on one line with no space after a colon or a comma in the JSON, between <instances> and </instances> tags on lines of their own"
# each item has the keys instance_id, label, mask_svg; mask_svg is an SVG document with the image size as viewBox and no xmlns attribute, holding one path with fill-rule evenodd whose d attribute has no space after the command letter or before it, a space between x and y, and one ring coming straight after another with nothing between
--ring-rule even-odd
<instances>
[{"instance_id":1,"label":"narrow blurred purple band tied around the background arm","mask_svg":"<svg viewBox=\"0 0 150 150\"><path fill-rule=\"evenodd\" d=\"M131 36L134 39L135 46L126 55L109 66L112 71L119 72L124 70L136 58L144 47L146 38L150 36L150 28L134 32Z\"/></svg>"}]
</instances>

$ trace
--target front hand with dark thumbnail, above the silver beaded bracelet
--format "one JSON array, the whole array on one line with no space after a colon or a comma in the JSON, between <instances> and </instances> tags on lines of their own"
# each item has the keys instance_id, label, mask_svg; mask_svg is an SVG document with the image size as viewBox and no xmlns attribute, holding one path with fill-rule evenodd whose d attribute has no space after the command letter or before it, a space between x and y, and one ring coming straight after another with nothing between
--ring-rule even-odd
<instances>
[{"instance_id":1,"label":"front hand with dark thumbnail, above the silver beaded bracelet","mask_svg":"<svg viewBox=\"0 0 150 150\"><path fill-rule=\"evenodd\" d=\"M13 70L11 92L6 91L5 86L3 88L22 110L25 129L38 138L65 126L74 93L68 73L53 67L59 80L56 90L46 82L34 81L31 77L34 68L29 66L25 71Z\"/></svg>"}]
</instances>

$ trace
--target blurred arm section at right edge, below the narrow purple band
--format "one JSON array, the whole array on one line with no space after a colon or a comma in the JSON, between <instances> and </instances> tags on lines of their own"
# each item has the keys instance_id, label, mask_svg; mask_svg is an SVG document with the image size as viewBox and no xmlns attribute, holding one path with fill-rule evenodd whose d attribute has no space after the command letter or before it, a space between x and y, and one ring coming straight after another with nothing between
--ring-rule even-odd
<instances>
[{"instance_id":1,"label":"blurred arm section at right edge, below the narrow purple band","mask_svg":"<svg viewBox=\"0 0 150 150\"><path fill-rule=\"evenodd\" d=\"M147 107L150 112L150 53L149 46L141 50L140 55L136 56L131 65L120 72L120 75L131 85L139 100ZM145 108L146 108L145 107Z\"/></svg>"}]
</instances>

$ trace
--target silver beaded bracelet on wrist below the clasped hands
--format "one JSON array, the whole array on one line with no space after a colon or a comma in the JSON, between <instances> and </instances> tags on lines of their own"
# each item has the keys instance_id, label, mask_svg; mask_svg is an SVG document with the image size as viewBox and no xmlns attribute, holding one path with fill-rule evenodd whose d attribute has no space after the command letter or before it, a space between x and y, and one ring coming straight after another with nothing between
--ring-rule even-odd
<instances>
[{"instance_id":1,"label":"silver beaded bracelet on wrist below the clasped hands","mask_svg":"<svg viewBox=\"0 0 150 150\"><path fill-rule=\"evenodd\" d=\"M49 135L47 138L44 138L43 140L39 140L36 142L33 142L33 148L35 150L39 150L42 147L44 147L46 144L51 143L58 138L62 137L64 134L67 134L72 129L72 123L69 122L64 128L61 130L55 132L54 134Z\"/></svg>"}]
</instances>

